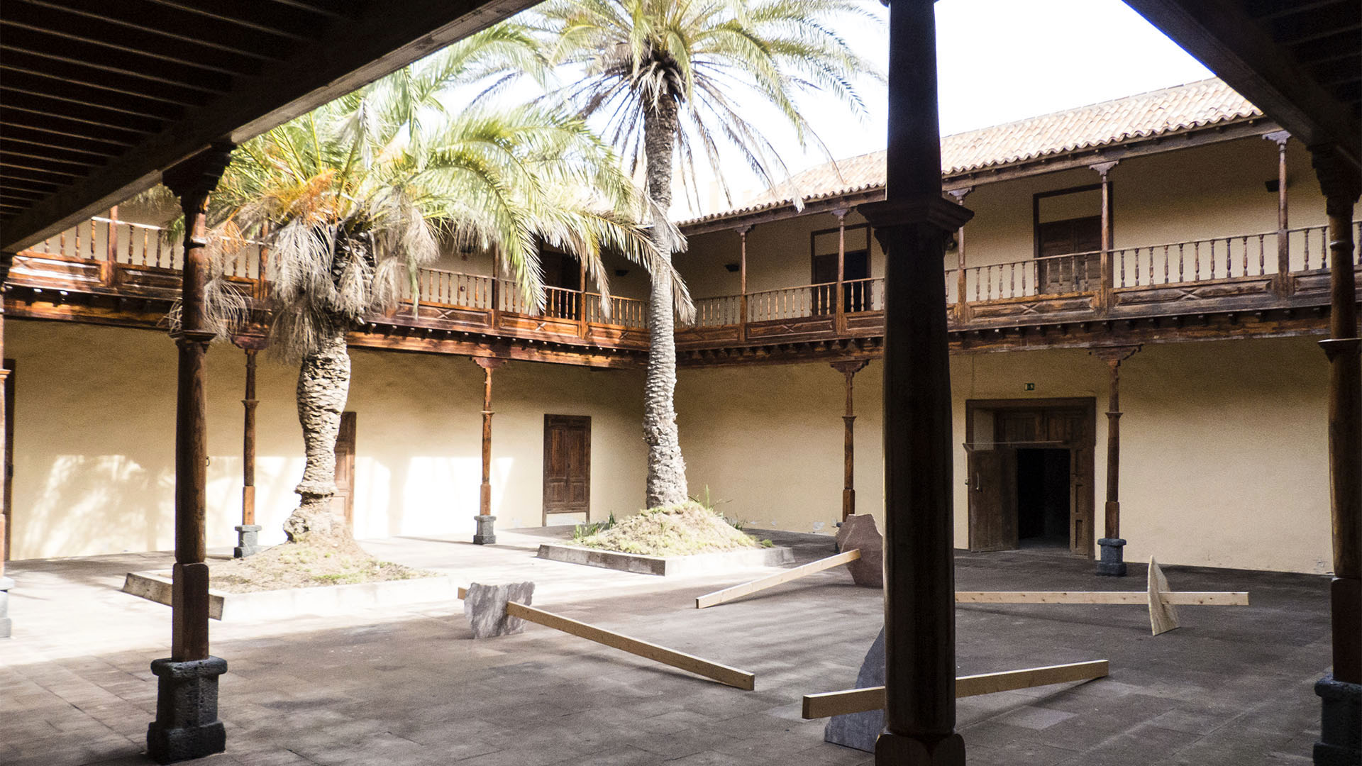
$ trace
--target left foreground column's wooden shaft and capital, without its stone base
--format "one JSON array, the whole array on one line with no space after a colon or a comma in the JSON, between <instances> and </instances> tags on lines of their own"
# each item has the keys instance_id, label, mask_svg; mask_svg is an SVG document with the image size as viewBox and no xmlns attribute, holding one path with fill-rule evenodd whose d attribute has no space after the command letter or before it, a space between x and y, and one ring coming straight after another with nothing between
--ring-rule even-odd
<instances>
[{"instance_id":1,"label":"left foreground column's wooden shaft and capital, without its stone base","mask_svg":"<svg viewBox=\"0 0 1362 766\"><path fill-rule=\"evenodd\" d=\"M203 305L203 290L208 281L204 237L208 194L218 185L230 151L230 146L206 150L166 170L162 179L180 196L185 218L180 326L172 333L180 356L170 635L170 658L176 662L208 657L208 564L204 563L208 432L204 363L214 331Z\"/></svg>"}]
</instances>

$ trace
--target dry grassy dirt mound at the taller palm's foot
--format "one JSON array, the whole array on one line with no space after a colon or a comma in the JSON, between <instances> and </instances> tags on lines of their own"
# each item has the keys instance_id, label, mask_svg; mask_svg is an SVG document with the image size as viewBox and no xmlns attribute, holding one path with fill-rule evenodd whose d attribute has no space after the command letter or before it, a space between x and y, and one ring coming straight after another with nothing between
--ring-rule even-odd
<instances>
[{"instance_id":1,"label":"dry grassy dirt mound at the taller palm's foot","mask_svg":"<svg viewBox=\"0 0 1362 766\"><path fill-rule=\"evenodd\" d=\"M575 542L586 548L644 556L689 556L763 547L761 541L735 529L700 503L650 508L609 529L577 537Z\"/></svg>"}]
</instances>

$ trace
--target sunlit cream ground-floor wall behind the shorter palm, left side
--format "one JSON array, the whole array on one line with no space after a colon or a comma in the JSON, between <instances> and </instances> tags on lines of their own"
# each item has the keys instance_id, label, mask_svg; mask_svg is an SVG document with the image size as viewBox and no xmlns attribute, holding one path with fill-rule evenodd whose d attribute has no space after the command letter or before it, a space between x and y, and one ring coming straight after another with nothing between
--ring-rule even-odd
<instances>
[{"instance_id":1,"label":"sunlit cream ground-floor wall behind the shorter palm, left side","mask_svg":"<svg viewBox=\"0 0 1362 766\"><path fill-rule=\"evenodd\" d=\"M174 345L162 333L10 320L16 364L12 557L173 545ZM481 481L482 369L466 357L353 350L355 534L471 534ZM302 435L296 368L257 371L257 523L283 538ZM208 545L236 542L244 354L208 353ZM492 500L498 525L537 526L543 416L591 416L594 517L636 510L646 451L636 372L512 363L494 373Z\"/></svg>"}]
</instances>

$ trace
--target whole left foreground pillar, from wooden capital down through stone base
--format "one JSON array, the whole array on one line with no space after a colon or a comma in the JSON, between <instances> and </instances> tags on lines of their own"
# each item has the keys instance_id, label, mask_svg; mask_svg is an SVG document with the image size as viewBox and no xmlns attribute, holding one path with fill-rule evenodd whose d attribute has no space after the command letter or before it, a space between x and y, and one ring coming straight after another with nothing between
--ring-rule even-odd
<instances>
[{"instance_id":1,"label":"whole left foreground pillar, from wooden capital down through stone base","mask_svg":"<svg viewBox=\"0 0 1362 766\"><path fill-rule=\"evenodd\" d=\"M180 196L185 218L178 346L174 461L174 567L170 657L151 662L158 676L157 720L147 729L147 752L162 763L222 752L218 676L226 661L208 656L208 564L204 563L208 424L204 367L214 328L204 312L208 281L208 194L227 165L230 146L215 146L162 174Z\"/></svg>"}]
</instances>

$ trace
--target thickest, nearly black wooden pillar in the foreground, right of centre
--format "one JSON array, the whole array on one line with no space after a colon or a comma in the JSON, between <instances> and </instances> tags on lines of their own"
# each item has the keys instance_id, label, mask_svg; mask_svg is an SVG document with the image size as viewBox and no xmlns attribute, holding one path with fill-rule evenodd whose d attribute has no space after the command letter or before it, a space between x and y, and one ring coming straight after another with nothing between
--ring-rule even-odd
<instances>
[{"instance_id":1,"label":"thickest, nearly black wooden pillar in the foreground, right of centre","mask_svg":"<svg viewBox=\"0 0 1362 766\"><path fill-rule=\"evenodd\" d=\"M957 766L951 369L945 239L971 213L941 196L932 3L889 4L885 199L859 207L885 252L884 634L876 763Z\"/></svg>"}]
</instances>

